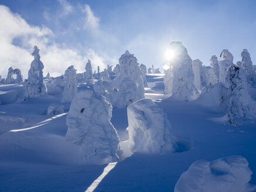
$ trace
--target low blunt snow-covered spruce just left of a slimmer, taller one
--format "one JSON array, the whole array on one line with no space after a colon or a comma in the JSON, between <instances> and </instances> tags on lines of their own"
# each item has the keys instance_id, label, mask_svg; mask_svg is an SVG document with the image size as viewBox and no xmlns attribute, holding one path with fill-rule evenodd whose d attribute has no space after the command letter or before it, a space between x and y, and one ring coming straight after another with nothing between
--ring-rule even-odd
<instances>
[{"instance_id":1,"label":"low blunt snow-covered spruce just left of a slimmer, taller one","mask_svg":"<svg viewBox=\"0 0 256 192\"><path fill-rule=\"evenodd\" d=\"M66 80L64 76L51 78L49 82L46 83L47 93L50 95L59 94L63 92Z\"/></svg>"}]
</instances>

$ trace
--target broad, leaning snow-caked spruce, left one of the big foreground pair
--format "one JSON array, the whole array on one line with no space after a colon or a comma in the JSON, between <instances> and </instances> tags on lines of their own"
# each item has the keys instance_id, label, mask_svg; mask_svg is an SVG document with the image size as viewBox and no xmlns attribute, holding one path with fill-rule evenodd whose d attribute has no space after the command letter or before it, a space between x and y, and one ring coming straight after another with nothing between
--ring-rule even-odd
<instances>
[{"instance_id":1,"label":"broad, leaning snow-caked spruce, left one of the big foreground pair","mask_svg":"<svg viewBox=\"0 0 256 192\"><path fill-rule=\"evenodd\" d=\"M111 112L111 104L91 91L78 92L71 102L66 138L81 146L86 164L116 162L122 153Z\"/></svg>"}]
</instances>

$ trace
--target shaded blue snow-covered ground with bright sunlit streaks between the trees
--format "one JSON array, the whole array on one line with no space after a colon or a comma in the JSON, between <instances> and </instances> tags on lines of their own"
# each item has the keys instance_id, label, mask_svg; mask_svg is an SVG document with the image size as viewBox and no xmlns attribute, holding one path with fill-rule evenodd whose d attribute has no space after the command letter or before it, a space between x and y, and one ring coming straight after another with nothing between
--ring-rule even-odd
<instances>
[{"instance_id":1,"label":"shaded blue snow-covered ground with bright sunlit streaks between the trees","mask_svg":"<svg viewBox=\"0 0 256 192\"><path fill-rule=\"evenodd\" d=\"M22 85L1 84L0 191L173 191L193 162L212 162L231 155L247 159L254 173L250 183L256 184L255 122L224 125L217 119L226 114L226 109L217 106L210 95L189 102L166 99L163 74L146 78L145 97L166 113L172 124L175 152L127 155L127 108L113 108L111 122L124 155L118 163L103 165L81 164L78 146L66 140L70 103L62 104L64 113L47 115L50 104L60 104L61 94L15 103ZM90 88L80 83L78 92L81 90Z\"/></svg>"}]
</instances>

